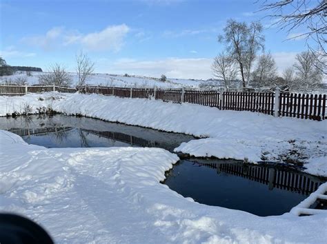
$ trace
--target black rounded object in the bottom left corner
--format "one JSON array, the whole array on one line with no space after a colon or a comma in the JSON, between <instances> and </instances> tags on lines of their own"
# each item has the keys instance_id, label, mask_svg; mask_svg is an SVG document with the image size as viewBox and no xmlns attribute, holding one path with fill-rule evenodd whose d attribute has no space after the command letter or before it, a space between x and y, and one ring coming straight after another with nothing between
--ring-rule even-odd
<instances>
[{"instance_id":1,"label":"black rounded object in the bottom left corner","mask_svg":"<svg viewBox=\"0 0 327 244\"><path fill-rule=\"evenodd\" d=\"M49 234L37 223L16 214L0 214L0 243L52 244Z\"/></svg>"}]
</instances>

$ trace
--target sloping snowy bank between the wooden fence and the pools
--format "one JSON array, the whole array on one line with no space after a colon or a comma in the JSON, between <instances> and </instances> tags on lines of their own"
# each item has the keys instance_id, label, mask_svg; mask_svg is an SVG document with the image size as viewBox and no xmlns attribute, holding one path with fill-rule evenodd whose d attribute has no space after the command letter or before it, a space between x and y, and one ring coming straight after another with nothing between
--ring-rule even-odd
<instances>
[{"instance_id":1,"label":"sloping snowy bank between the wooden fence and the pools","mask_svg":"<svg viewBox=\"0 0 327 244\"><path fill-rule=\"evenodd\" d=\"M189 103L122 99L97 94L28 94L0 97L0 115L51 108L112 122L206 137L182 143L176 152L251 162L305 163L306 172L327 176L327 121L275 118L217 110Z\"/></svg>"}]
</instances>

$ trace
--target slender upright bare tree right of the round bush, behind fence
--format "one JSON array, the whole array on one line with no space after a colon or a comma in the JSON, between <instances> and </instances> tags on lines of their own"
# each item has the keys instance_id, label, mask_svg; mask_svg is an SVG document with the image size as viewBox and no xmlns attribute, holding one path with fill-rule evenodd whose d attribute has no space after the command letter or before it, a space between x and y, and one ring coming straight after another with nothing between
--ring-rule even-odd
<instances>
[{"instance_id":1,"label":"slender upright bare tree right of the round bush, behind fence","mask_svg":"<svg viewBox=\"0 0 327 244\"><path fill-rule=\"evenodd\" d=\"M90 61L90 58L86 54L83 54L83 52L79 52L79 54L76 55L76 63L76 72L79 77L77 87L81 88L86 84L88 77L90 77L90 74L95 70L95 63Z\"/></svg>"}]
</instances>

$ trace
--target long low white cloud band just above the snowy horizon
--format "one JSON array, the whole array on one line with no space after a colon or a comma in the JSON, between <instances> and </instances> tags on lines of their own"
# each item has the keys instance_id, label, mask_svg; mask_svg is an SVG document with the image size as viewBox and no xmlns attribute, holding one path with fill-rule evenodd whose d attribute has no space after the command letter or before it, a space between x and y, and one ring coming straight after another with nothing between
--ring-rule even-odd
<instances>
[{"instance_id":1,"label":"long low white cloud band just above the snowy horizon","mask_svg":"<svg viewBox=\"0 0 327 244\"><path fill-rule=\"evenodd\" d=\"M179 59L168 58L155 61L137 61L134 59L120 59L110 66L110 70L117 74L140 74L148 77L160 77L166 74L170 78L209 79L212 59Z\"/></svg>"}]
</instances>

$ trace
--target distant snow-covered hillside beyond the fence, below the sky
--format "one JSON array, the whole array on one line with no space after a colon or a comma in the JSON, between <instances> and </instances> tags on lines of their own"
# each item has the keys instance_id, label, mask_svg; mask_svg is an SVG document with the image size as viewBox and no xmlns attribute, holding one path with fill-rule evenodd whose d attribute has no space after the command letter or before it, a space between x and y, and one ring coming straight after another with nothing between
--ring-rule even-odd
<instances>
[{"instance_id":1,"label":"distant snow-covered hillside beyond the fence, below the sky","mask_svg":"<svg viewBox=\"0 0 327 244\"><path fill-rule=\"evenodd\" d=\"M32 72L32 76L26 76L25 72L17 72L10 76L0 77L0 83L12 81L15 82L17 78L26 78L28 84L39 83L39 76L45 72ZM78 78L76 73L70 73L73 83L76 83ZM116 87L142 87L142 88L199 88L201 80L190 79L167 79L167 81L160 81L159 78L131 76L125 77L122 74L92 74L87 83L89 85L105 85Z\"/></svg>"}]
</instances>

